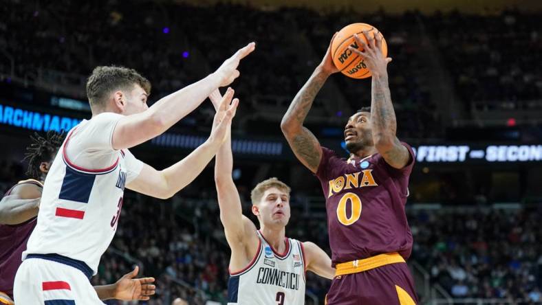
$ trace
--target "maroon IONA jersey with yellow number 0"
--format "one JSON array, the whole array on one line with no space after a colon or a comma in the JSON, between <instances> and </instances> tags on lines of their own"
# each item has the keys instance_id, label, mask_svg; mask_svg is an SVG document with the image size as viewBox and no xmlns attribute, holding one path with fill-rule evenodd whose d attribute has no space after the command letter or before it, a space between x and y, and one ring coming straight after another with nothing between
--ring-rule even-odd
<instances>
[{"instance_id":1,"label":"maroon IONA jersey with yellow number 0","mask_svg":"<svg viewBox=\"0 0 542 305\"><path fill-rule=\"evenodd\" d=\"M326 198L333 265L399 252L408 258L412 234L404 212L414 153L404 168L389 166L378 153L345 159L322 148L316 172Z\"/></svg>"}]
</instances>

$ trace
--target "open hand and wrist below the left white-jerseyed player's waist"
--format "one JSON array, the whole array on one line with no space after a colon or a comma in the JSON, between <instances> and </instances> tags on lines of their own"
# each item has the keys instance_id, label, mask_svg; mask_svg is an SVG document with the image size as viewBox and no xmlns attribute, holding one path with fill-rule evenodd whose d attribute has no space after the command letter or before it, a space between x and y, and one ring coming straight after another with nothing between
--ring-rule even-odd
<instances>
[{"instance_id":1,"label":"open hand and wrist below the left white-jerseyed player's waist","mask_svg":"<svg viewBox=\"0 0 542 305\"><path fill-rule=\"evenodd\" d=\"M155 294L154 278L135 278L139 267L124 274L115 284L94 286L100 300L147 301Z\"/></svg>"}]
</instances>

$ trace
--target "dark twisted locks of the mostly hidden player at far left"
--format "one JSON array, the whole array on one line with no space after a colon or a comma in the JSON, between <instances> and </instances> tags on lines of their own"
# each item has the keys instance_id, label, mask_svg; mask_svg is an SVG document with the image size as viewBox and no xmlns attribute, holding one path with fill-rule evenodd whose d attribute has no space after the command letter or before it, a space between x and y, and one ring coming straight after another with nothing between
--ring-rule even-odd
<instances>
[{"instance_id":1,"label":"dark twisted locks of the mostly hidden player at far left","mask_svg":"<svg viewBox=\"0 0 542 305\"><path fill-rule=\"evenodd\" d=\"M64 142L65 133L56 133L54 131L48 131L45 137L42 137L38 133L30 136L32 144L26 148L24 160L28 160L28 169L26 174L29 178L40 180L41 179L41 162L50 162L53 155L56 154L58 148L61 147Z\"/></svg>"}]
</instances>

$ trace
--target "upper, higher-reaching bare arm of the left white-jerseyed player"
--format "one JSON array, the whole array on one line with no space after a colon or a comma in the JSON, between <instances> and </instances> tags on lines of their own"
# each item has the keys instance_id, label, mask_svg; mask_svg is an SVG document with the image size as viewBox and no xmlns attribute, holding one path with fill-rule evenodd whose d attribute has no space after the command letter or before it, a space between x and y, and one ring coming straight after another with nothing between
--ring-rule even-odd
<instances>
[{"instance_id":1,"label":"upper, higher-reaching bare arm of the left white-jerseyed player","mask_svg":"<svg viewBox=\"0 0 542 305\"><path fill-rule=\"evenodd\" d=\"M218 87L224 87L239 76L239 61L254 51L254 43L239 49L203 80L167 95L147 111L122 117L113 131L115 149L131 148L156 137L201 104Z\"/></svg>"}]
</instances>

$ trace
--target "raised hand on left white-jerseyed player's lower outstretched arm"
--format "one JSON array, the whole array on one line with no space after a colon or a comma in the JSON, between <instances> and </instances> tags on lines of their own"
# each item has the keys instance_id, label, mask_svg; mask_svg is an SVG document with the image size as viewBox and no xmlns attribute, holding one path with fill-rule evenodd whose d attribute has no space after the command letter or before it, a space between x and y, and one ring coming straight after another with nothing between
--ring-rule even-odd
<instances>
[{"instance_id":1,"label":"raised hand on left white-jerseyed player's lower outstretched arm","mask_svg":"<svg viewBox=\"0 0 542 305\"><path fill-rule=\"evenodd\" d=\"M215 114L215 119L213 120L213 129L210 131L210 139L213 141L218 141L219 144L224 143L226 140L232 119L235 116L237 106L239 105L239 100L237 98L232 100L233 93L234 90L228 88L218 103L218 106L215 106L217 113ZM217 96L219 95L213 95L213 99ZM213 104L215 104L215 102L213 102Z\"/></svg>"}]
</instances>

